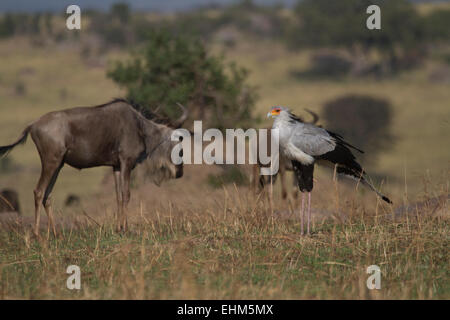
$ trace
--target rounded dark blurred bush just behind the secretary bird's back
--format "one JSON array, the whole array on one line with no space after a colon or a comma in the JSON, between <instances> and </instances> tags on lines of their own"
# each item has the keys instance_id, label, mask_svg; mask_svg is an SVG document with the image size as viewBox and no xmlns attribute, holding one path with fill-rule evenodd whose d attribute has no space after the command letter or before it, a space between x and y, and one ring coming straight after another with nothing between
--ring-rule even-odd
<instances>
[{"instance_id":1,"label":"rounded dark blurred bush just behind the secretary bird's back","mask_svg":"<svg viewBox=\"0 0 450 320\"><path fill-rule=\"evenodd\" d=\"M379 151L392 144L392 106L385 99L346 95L325 103L323 115L328 130L367 151L370 159L366 161L374 160Z\"/></svg>"}]
</instances>

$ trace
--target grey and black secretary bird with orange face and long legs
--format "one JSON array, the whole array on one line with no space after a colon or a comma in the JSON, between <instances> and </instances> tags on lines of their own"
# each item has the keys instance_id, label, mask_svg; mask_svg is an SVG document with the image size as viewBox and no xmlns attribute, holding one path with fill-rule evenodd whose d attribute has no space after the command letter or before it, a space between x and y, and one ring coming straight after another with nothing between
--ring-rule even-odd
<instances>
[{"instance_id":1,"label":"grey and black secretary bird with orange face and long legs","mask_svg":"<svg viewBox=\"0 0 450 320\"><path fill-rule=\"evenodd\" d=\"M311 191L313 189L314 164L324 160L336 165L336 172L361 181L387 203L392 204L365 179L366 172L356 161L350 149L364 153L362 150L344 141L339 134L305 123L285 107L272 107L267 117L274 118L272 129L279 129L280 152L292 161L298 187L302 192L301 234L303 235L303 221L305 209L305 192L308 192L308 223L307 234L310 233L311 222Z\"/></svg>"}]
</instances>

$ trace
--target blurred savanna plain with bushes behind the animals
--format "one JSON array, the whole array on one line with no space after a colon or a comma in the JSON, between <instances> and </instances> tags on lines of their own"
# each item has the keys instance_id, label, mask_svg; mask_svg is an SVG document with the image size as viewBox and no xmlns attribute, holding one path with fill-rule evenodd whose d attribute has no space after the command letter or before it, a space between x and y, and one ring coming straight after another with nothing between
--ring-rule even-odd
<instances>
[{"instance_id":1,"label":"blurred savanna plain with bushes behind the animals","mask_svg":"<svg viewBox=\"0 0 450 320\"><path fill-rule=\"evenodd\" d=\"M381 8L381 30L365 27L371 4ZM398 186L406 160L416 176L435 164L448 168L440 142L450 128L443 89L450 83L448 2L303 0L286 7L245 0L170 12L117 2L83 8L80 31L68 31L66 17L0 13L5 143L44 112L120 95L167 117L179 116L180 102L190 111L186 126L201 119L221 129L269 126L261 116L284 104L319 113L321 124L371 155L364 159L371 172ZM33 164L38 172L33 148L3 160L0 171ZM240 184L244 175L233 170L209 184ZM80 186L101 176L88 175ZM35 183L29 176L27 187Z\"/></svg>"}]
</instances>

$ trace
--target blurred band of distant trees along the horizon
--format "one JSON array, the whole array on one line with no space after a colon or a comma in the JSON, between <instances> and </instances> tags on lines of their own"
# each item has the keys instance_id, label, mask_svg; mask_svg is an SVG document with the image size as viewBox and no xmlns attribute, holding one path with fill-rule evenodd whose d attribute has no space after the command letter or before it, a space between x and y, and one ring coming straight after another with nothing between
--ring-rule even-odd
<instances>
[{"instance_id":1,"label":"blurred band of distant trees along the horizon","mask_svg":"<svg viewBox=\"0 0 450 320\"><path fill-rule=\"evenodd\" d=\"M363 27L368 17L366 8L372 4L382 9L382 29L377 32ZM133 12L127 3L118 2L109 12L86 10L84 14L89 21L88 32L96 36L102 51L145 43L154 45L155 41L169 41L169 35L173 35L176 37L171 41L180 46L183 41L189 43L195 38L188 49L192 53L206 50L199 47L199 41L207 42L215 37L224 45L233 46L239 34L246 34L279 41L293 50L339 51L334 59L331 53L328 59L313 59L311 72L319 75L329 70L331 75L339 72L353 76L390 76L420 66L431 47L448 43L450 39L450 9L444 7L419 14L416 6L407 0L303 0L292 10L281 5L258 6L244 0L220 10L203 7L176 15ZM156 35L160 30L164 31ZM45 35L47 41L79 36L55 30L50 13L2 15L0 38L17 34ZM346 58L342 57L343 52ZM173 59L173 55L167 59Z\"/></svg>"}]
</instances>

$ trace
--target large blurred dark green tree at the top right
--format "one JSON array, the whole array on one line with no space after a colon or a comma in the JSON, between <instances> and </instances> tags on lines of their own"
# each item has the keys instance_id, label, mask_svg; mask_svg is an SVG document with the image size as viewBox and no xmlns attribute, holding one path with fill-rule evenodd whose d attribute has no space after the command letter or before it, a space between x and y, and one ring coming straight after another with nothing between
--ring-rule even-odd
<instances>
[{"instance_id":1,"label":"large blurred dark green tree at the top right","mask_svg":"<svg viewBox=\"0 0 450 320\"><path fill-rule=\"evenodd\" d=\"M372 4L381 8L381 30L366 28ZM398 71L403 55L421 47L425 36L422 20L406 0L303 0L295 13L291 46L339 47L354 55L376 49L386 73Z\"/></svg>"}]
</instances>

